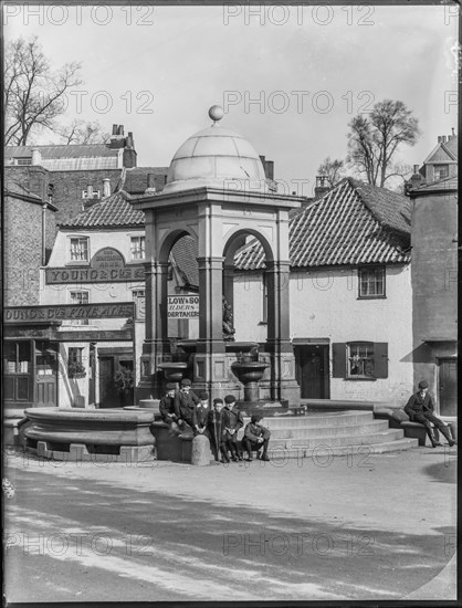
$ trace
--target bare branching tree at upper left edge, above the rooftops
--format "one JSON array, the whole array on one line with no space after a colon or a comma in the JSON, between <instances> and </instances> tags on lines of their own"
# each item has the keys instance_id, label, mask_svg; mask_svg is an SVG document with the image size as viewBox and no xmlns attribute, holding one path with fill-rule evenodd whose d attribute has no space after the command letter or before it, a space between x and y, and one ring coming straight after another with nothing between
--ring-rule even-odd
<instances>
[{"instance_id":1,"label":"bare branching tree at upper left edge, above the rooftops","mask_svg":"<svg viewBox=\"0 0 462 608\"><path fill-rule=\"evenodd\" d=\"M56 72L36 36L19 38L6 51L4 112L6 144L25 146L40 128L55 128L55 118L65 109L65 93L82 84L80 63L66 63Z\"/></svg>"}]
</instances>

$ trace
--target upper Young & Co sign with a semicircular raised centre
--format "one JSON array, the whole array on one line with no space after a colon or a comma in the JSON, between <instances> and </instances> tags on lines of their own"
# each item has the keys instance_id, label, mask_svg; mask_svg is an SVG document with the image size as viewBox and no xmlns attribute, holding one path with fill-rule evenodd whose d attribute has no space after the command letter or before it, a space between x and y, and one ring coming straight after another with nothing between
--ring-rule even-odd
<instances>
[{"instance_id":1,"label":"upper Young & Co sign with a semicircular raised centre","mask_svg":"<svg viewBox=\"0 0 462 608\"><path fill-rule=\"evenodd\" d=\"M97 251L88 266L45 269L46 285L60 283L120 283L145 280L143 264L125 264L124 256L112 247Z\"/></svg>"}]
</instances>

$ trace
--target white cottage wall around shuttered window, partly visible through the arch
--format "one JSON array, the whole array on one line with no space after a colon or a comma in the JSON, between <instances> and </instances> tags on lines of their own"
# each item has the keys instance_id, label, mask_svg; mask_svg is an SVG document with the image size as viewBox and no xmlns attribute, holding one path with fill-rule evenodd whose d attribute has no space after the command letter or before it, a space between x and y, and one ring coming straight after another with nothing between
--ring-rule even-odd
<instances>
[{"instance_id":1,"label":"white cottage wall around shuttered window, partly visible through the arch","mask_svg":"<svg viewBox=\"0 0 462 608\"><path fill-rule=\"evenodd\" d=\"M328 338L330 399L406 403L412 387L412 296L410 266L387 266L386 297L358 298L356 270L292 273L291 338ZM266 339L262 324L261 274L234 281L237 340ZM353 340L388 343L388 378L346 380L332 377L332 344Z\"/></svg>"}]
</instances>

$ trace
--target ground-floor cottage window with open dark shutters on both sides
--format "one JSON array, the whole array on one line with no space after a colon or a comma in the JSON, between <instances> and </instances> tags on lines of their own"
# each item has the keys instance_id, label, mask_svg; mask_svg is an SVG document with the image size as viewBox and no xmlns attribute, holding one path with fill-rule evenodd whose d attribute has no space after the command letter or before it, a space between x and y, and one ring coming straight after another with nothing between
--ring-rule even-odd
<instances>
[{"instance_id":1,"label":"ground-floor cottage window with open dark shutters on both sides","mask_svg":"<svg viewBox=\"0 0 462 608\"><path fill-rule=\"evenodd\" d=\"M388 378L388 343L348 342L332 345L333 377L346 380Z\"/></svg>"}]
</instances>

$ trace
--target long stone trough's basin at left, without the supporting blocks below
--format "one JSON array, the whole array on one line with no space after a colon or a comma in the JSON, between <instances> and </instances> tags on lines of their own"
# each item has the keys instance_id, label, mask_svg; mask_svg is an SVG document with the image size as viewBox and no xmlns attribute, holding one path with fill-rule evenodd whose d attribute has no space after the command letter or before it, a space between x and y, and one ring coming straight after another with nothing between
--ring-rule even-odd
<instances>
[{"instance_id":1,"label":"long stone trough's basin at left, without the supporting blocks below","mask_svg":"<svg viewBox=\"0 0 462 608\"><path fill-rule=\"evenodd\" d=\"M55 445L154 445L154 412L119 409L28 408L27 440Z\"/></svg>"}]
</instances>

